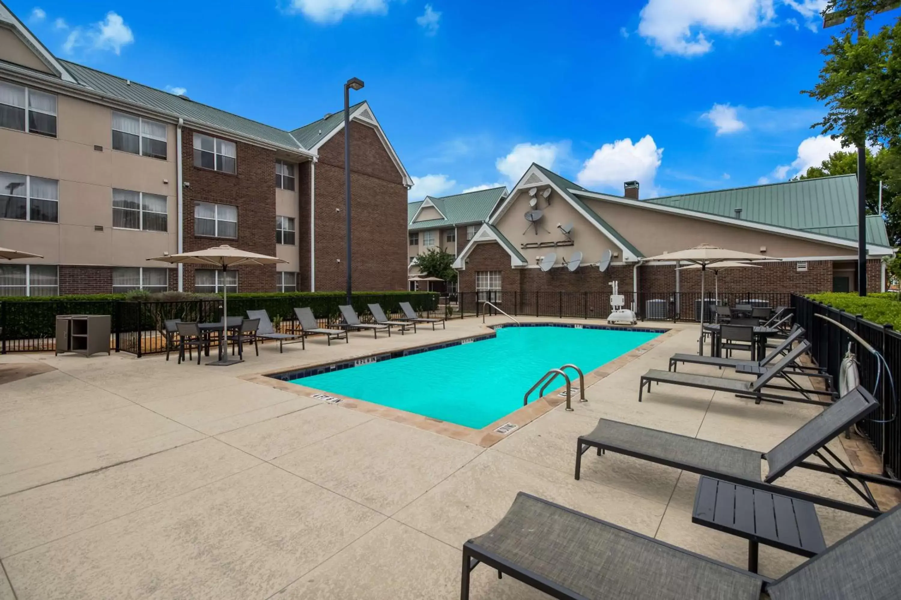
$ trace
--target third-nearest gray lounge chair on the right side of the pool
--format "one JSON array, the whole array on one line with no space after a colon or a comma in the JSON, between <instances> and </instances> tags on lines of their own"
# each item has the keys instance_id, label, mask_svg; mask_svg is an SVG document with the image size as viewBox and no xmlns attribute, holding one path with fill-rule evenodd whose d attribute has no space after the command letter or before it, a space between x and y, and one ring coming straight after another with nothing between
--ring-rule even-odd
<instances>
[{"instance_id":1,"label":"third-nearest gray lounge chair on the right side of the pool","mask_svg":"<svg viewBox=\"0 0 901 600\"><path fill-rule=\"evenodd\" d=\"M833 392L822 391L817 389L806 389L796 383L791 377L785 375L785 370L795 364L798 357L804 354L810 348L809 341L802 341L793 350L777 363L770 363L762 373L751 373L757 375L754 381L744 379L732 379L729 377L710 377L707 375L694 375L691 373L677 373L673 371L661 371L651 368L650 371L642 375L639 383L638 401L642 402L642 393L644 385L648 385L648 392L651 392L651 383L666 383L674 386L699 387L701 389L712 389L717 392L733 392L743 398L752 398L755 404L762 401L776 402L801 402L808 405L828 406L832 402L829 400L815 400L812 395L825 395L832 398ZM736 368L736 372L740 372ZM785 376L785 377L782 377ZM770 383L775 377L780 377L788 382L788 386L778 386ZM776 394L769 390L787 390L798 392L801 397L794 395Z\"/></svg>"}]
</instances>

